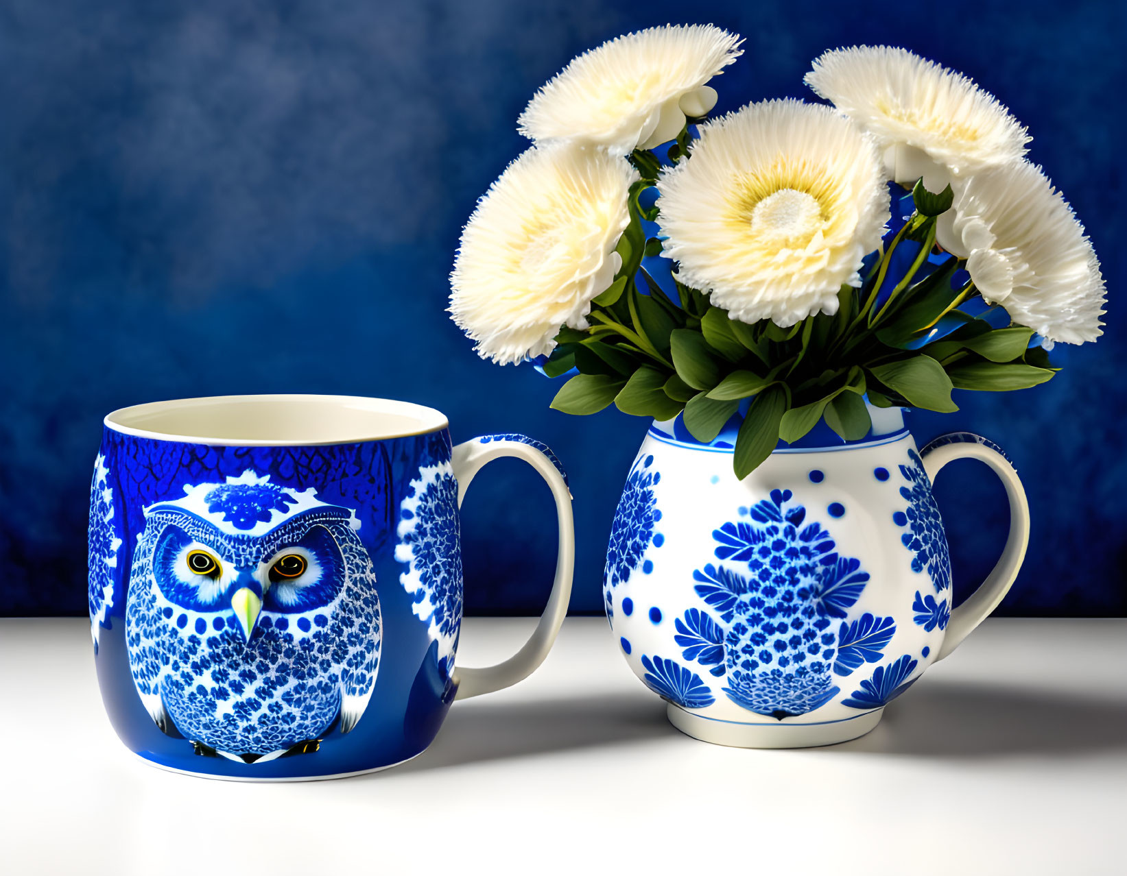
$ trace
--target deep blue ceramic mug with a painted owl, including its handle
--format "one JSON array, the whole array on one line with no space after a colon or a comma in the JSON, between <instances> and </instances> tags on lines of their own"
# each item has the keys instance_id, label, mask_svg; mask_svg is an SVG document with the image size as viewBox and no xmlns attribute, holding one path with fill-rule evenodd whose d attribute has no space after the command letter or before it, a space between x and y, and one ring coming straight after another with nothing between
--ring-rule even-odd
<instances>
[{"instance_id":1,"label":"deep blue ceramic mug with a painted owl, including its handle","mask_svg":"<svg viewBox=\"0 0 1127 876\"><path fill-rule=\"evenodd\" d=\"M556 580L509 660L455 665L459 507L515 456L556 500ZM436 410L245 395L105 419L90 490L90 632L114 730L165 769L349 776L423 752L454 699L543 661L571 592L567 477L521 435L451 445Z\"/></svg>"}]
</instances>

